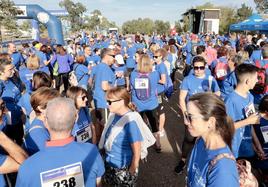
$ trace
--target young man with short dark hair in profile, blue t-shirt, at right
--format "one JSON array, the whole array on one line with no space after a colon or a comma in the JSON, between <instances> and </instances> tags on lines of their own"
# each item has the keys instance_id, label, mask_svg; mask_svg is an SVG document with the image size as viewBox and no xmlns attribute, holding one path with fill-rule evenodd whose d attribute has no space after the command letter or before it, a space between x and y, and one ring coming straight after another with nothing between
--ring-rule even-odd
<instances>
[{"instance_id":1,"label":"young man with short dark hair in profile, blue t-shirt, at right","mask_svg":"<svg viewBox=\"0 0 268 187\"><path fill-rule=\"evenodd\" d=\"M259 115L255 112L253 96L249 90L257 82L257 71L258 68L251 64L237 66L237 86L225 99L227 113L235 122L232 151L236 158L252 157L255 154L252 147L254 129L251 125L259 123Z\"/></svg>"}]
</instances>

